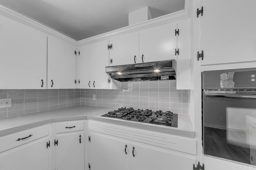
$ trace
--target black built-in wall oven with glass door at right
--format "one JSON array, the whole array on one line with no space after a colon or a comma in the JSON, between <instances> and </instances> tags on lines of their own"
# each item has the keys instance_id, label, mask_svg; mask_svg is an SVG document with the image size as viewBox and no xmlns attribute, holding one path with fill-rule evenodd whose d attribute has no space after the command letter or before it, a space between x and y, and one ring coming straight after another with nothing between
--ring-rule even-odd
<instances>
[{"instance_id":1,"label":"black built-in wall oven with glass door at right","mask_svg":"<svg viewBox=\"0 0 256 170\"><path fill-rule=\"evenodd\" d=\"M202 73L206 156L256 165L256 68Z\"/></svg>"}]
</instances>

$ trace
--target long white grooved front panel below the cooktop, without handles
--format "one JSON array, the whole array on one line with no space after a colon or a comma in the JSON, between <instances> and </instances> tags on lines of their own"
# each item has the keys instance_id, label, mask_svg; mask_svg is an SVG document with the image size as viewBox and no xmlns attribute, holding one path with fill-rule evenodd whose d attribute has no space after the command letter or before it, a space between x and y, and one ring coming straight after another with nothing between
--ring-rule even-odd
<instances>
[{"instance_id":1,"label":"long white grooved front panel below the cooktop, without handles","mask_svg":"<svg viewBox=\"0 0 256 170\"><path fill-rule=\"evenodd\" d=\"M88 121L90 132L100 132L153 146L177 150L196 155L196 140L160 132L152 132L138 128Z\"/></svg>"}]
</instances>

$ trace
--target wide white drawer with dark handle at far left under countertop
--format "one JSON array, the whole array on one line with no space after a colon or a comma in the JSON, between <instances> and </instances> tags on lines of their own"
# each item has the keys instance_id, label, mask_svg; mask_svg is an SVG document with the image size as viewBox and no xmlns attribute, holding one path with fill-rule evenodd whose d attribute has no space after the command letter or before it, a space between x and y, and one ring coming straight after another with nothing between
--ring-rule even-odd
<instances>
[{"instance_id":1,"label":"wide white drawer with dark handle at far left under countertop","mask_svg":"<svg viewBox=\"0 0 256 170\"><path fill-rule=\"evenodd\" d=\"M49 125L45 125L0 137L0 152L48 136L48 134Z\"/></svg>"}]
</instances>

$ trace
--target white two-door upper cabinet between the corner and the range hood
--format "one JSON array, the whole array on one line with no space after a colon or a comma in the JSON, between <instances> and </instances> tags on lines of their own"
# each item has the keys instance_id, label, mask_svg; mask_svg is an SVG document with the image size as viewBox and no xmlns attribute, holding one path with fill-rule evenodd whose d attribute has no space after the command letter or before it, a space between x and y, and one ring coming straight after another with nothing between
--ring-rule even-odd
<instances>
[{"instance_id":1,"label":"white two-door upper cabinet between the corner and the range hood","mask_svg":"<svg viewBox=\"0 0 256 170\"><path fill-rule=\"evenodd\" d=\"M108 40L102 40L79 47L77 59L77 81L81 89L109 89L108 74Z\"/></svg>"}]
</instances>

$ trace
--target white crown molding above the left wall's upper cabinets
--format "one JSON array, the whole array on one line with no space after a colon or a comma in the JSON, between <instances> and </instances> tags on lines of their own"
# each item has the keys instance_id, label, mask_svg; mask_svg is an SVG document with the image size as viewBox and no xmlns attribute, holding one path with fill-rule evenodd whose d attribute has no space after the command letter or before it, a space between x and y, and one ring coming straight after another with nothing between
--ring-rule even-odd
<instances>
[{"instance_id":1,"label":"white crown molding above the left wall's upper cabinets","mask_svg":"<svg viewBox=\"0 0 256 170\"><path fill-rule=\"evenodd\" d=\"M23 16L22 14L19 14L18 12L10 10L9 8L6 8L5 6L0 5L0 14L3 16L6 16L12 20L15 20L17 22L20 22L22 24L25 24L29 27L32 27L36 30L39 30L40 32L44 32L45 34L54 36L54 37L59 38L65 42L71 43L73 45L77 45L76 40L74 40L68 36L65 36L64 34L58 32L56 30L53 30L52 28L44 26L43 24L40 24L39 22L36 22L26 16Z\"/></svg>"}]
</instances>

